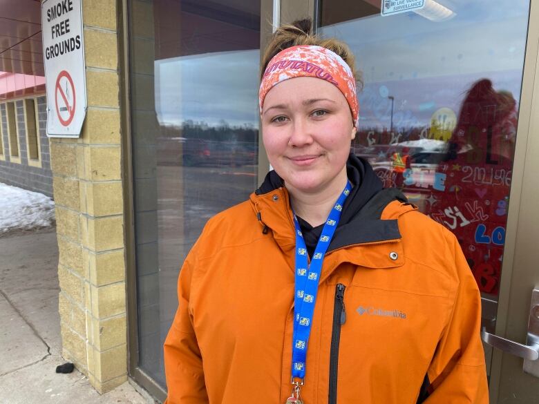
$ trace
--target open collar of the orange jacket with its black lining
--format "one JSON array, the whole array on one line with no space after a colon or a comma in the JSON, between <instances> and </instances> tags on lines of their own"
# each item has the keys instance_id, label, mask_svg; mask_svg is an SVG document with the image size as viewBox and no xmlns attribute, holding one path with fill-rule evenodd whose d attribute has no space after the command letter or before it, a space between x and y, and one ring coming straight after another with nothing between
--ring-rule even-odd
<instances>
[{"instance_id":1,"label":"open collar of the orange jacket with its black lining","mask_svg":"<svg viewBox=\"0 0 539 404\"><path fill-rule=\"evenodd\" d=\"M357 159L357 157L353 157ZM352 155L350 160L352 160ZM350 160L348 165L350 165ZM332 261L330 257L334 255L332 253L340 251L338 254L340 262L345 259L353 264L365 267L398 267L404 262L404 254L401 251L401 234L397 218L399 215L415 209L415 206L408 204L406 197L399 190L378 187L378 179L370 177L371 174L375 175L372 173L370 165L364 160L360 162L361 165L366 167L366 170L361 171L361 186L356 186L356 192L353 195L351 194L350 197L354 199L366 198L365 194L369 191L372 192L372 195L368 195L368 201L361 204L360 209L355 211L353 206L358 206L358 204L354 204L354 200L347 200L352 209L346 211L345 205L341 223L339 223L339 227L335 231L326 259L330 264ZM351 163L357 164L357 161L352 160ZM350 167L348 176L350 177ZM368 189L363 186L366 180L371 182ZM290 208L290 197L281 177L275 171L270 171L261 187L255 193L252 193L250 200L258 221L261 223L261 231L272 232L274 240L287 256L293 270L293 250L296 244L294 218ZM347 213L346 217L344 213ZM382 247L383 244L388 245ZM377 248L372 249L373 245L377 245ZM372 256L372 253L366 253L365 251L361 253L352 251L357 247L362 247L362 251L367 248L368 250L365 251L377 251L377 253ZM392 252L397 253L399 258L393 259L395 255L390 256ZM380 254L385 256L386 259L381 259Z\"/></svg>"}]
</instances>

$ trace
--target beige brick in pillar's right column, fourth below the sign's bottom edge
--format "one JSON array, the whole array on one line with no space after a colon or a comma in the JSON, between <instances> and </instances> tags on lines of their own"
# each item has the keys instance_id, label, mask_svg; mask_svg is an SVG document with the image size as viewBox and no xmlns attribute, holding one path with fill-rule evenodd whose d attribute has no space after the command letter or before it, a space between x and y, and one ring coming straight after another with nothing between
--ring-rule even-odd
<instances>
[{"instance_id":1,"label":"beige brick in pillar's right column, fourth below the sign's bottom edge","mask_svg":"<svg viewBox=\"0 0 539 404\"><path fill-rule=\"evenodd\" d=\"M89 253L90 280L95 286L108 285L125 280L124 250L105 253Z\"/></svg>"}]
</instances>

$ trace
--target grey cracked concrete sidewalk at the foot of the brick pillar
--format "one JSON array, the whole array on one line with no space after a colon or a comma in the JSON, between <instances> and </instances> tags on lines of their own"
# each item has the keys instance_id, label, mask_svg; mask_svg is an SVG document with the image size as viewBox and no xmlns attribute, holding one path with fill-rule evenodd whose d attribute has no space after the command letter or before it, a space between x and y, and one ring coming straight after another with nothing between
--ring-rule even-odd
<instances>
[{"instance_id":1,"label":"grey cracked concrete sidewalk at the foot of the brick pillar","mask_svg":"<svg viewBox=\"0 0 539 404\"><path fill-rule=\"evenodd\" d=\"M66 360L54 229L0 238L0 257L0 403L154 403L135 383L100 395L77 369L55 373Z\"/></svg>"}]
</instances>

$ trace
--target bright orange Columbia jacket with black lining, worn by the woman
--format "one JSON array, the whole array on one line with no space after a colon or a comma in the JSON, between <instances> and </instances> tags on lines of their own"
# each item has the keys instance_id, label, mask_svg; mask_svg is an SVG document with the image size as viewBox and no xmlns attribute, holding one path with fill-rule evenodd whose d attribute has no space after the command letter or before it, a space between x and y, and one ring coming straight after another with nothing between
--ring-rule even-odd
<instances>
[{"instance_id":1,"label":"bright orange Columbia jacket with black lining, worn by the woman","mask_svg":"<svg viewBox=\"0 0 539 404\"><path fill-rule=\"evenodd\" d=\"M391 193L372 198L340 240L338 228L326 253L303 401L414 404L429 385L424 403L486 404L480 294L460 246ZM278 188L207 223L180 272L164 343L165 403L276 404L290 396L289 206Z\"/></svg>"}]
</instances>

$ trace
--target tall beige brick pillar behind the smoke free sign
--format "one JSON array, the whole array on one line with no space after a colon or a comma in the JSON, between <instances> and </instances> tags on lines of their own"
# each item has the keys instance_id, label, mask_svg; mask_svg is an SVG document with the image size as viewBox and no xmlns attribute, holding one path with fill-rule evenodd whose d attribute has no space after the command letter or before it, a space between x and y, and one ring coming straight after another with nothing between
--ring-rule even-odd
<instances>
[{"instance_id":1,"label":"tall beige brick pillar behind the smoke free sign","mask_svg":"<svg viewBox=\"0 0 539 404\"><path fill-rule=\"evenodd\" d=\"M82 6L88 111L81 137L52 139L50 157L62 355L103 393L127 380L118 13L116 0Z\"/></svg>"}]
</instances>

